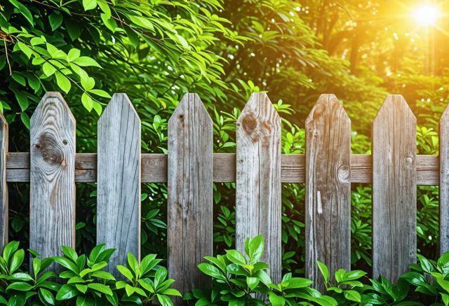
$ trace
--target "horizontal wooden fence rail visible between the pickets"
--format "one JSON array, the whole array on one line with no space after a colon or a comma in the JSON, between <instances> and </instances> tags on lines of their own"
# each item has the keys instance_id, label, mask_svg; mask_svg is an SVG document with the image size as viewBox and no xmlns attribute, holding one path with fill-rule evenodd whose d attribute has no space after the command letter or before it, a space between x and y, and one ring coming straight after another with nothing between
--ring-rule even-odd
<instances>
[{"instance_id":1,"label":"horizontal wooden fence rail visible between the pickets","mask_svg":"<svg viewBox=\"0 0 449 306\"><path fill-rule=\"evenodd\" d=\"M305 183L306 155L282 154L282 183ZM351 155L351 183L371 183L373 167L371 155ZM417 155L416 184L436 186L439 181L438 155ZM142 183L167 182L167 155L142 154ZM29 182L29 153L8 153L6 156L6 181ZM75 157L75 181L93 183L97 181L97 155L77 153ZM215 153L213 155L213 181L236 181L236 155Z\"/></svg>"}]
</instances>

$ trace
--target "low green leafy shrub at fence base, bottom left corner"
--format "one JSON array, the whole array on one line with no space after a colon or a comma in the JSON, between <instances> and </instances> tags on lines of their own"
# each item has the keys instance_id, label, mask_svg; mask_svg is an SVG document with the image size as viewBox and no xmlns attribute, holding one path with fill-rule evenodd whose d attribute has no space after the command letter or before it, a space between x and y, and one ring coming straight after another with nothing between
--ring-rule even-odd
<instances>
[{"instance_id":1,"label":"low green leafy shrub at fence base, bottom left corner","mask_svg":"<svg viewBox=\"0 0 449 306\"><path fill-rule=\"evenodd\" d=\"M38 256L29 250L31 256ZM102 269L108 265L114 249L95 246L89 256L62 247L64 256L32 258L34 277L26 272L25 251L18 242L10 242L0 256L0 305L173 305L170 295L181 294L170 288L167 270L160 259L150 254L138 260L128 253L128 267L119 265L116 278ZM55 263L55 265L53 265ZM56 267L59 274L49 270Z\"/></svg>"}]
</instances>

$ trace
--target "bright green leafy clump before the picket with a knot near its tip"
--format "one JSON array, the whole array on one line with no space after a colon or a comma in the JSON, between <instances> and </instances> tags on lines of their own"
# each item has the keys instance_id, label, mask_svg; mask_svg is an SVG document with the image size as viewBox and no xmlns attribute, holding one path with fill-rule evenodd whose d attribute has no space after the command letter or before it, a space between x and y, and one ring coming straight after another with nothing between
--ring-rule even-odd
<instances>
[{"instance_id":1,"label":"bright green leafy clump before the picket with a knot near its tip","mask_svg":"<svg viewBox=\"0 0 449 306\"><path fill-rule=\"evenodd\" d=\"M226 255L206 256L209 263L200 263L199 270L212 277L213 287L209 290L194 289L185 294L188 301L196 305L297 305L297 300L316 302L318 305L337 305L333 298L321 295L310 288L309 279L284 275L281 283L272 284L267 274L269 265L260 261L264 253L262 236L246 239L245 255L235 249Z\"/></svg>"}]
</instances>

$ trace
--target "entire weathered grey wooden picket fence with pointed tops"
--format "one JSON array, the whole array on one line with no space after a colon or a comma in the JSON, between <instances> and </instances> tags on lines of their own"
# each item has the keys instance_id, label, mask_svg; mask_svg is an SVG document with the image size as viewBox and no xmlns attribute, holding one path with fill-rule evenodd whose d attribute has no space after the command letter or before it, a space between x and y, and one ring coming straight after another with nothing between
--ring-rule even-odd
<instances>
[{"instance_id":1,"label":"entire weathered grey wooden picket fence with pointed tops","mask_svg":"<svg viewBox=\"0 0 449 306\"><path fill-rule=\"evenodd\" d=\"M8 182L29 182L30 247L43 256L74 246L75 182L97 182L97 239L116 248L114 265L140 255L140 184L168 183L168 270L182 292L205 286L196 265L213 251L213 182L236 182L236 246L265 237L264 260L281 280L281 183L306 186L306 274L323 288L316 260L350 268L351 183L373 184L373 276L395 281L416 260L416 186L440 186L441 252L449 249L449 111L440 156L416 155L416 120L399 95L373 123L373 155L351 155L351 121L334 95L306 120L307 153L281 155L281 120L253 94L236 123L236 154L213 153L213 124L187 94L168 122L168 155L140 153L140 119L116 94L98 122L98 153L75 153L75 119L47 93L34 111L30 152L8 152L0 125L0 236L8 237ZM298 203L299 204L299 203ZM114 272L114 271L112 271Z\"/></svg>"}]
</instances>

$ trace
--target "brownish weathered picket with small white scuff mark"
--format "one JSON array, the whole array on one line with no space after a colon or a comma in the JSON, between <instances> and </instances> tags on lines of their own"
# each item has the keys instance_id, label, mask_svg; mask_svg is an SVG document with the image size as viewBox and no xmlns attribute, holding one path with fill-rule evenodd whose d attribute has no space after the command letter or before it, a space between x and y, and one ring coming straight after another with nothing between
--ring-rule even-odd
<instances>
[{"instance_id":1,"label":"brownish weathered picket with small white scuff mark","mask_svg":"<svg viewBox=\"0 0 449 306\"><path fill-rule=\"evenodd\" d=\"M306 276L325 291L316 260L333 275L351 268L351 120L335 95L321 95L306 129Z\"/></svg>"}]
</instances>

